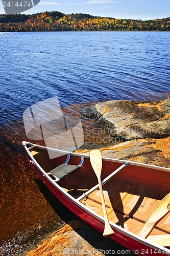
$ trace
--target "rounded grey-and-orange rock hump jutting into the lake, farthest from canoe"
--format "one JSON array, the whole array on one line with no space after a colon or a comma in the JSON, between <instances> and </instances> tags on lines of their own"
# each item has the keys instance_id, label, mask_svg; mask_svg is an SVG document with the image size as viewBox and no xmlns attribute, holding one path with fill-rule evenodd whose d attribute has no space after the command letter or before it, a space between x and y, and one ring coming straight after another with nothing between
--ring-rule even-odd
<instances>
[{"instance_id":1,"label":"rounded grey-and-orange rock hump jutting into the lake, farthest from canoe","mask_svg":"<svg viewBox=\"0 0 170 256\"><path fill-rule=\"evenodd\" d=\"M92 106L96 118L112 127L112 135L133 140L170 135L170 98L142 102L113 100Z\"/></svg>"}]
</instances>

